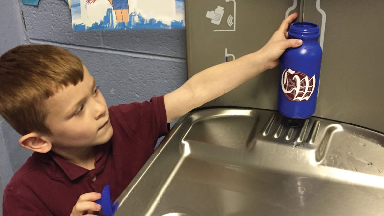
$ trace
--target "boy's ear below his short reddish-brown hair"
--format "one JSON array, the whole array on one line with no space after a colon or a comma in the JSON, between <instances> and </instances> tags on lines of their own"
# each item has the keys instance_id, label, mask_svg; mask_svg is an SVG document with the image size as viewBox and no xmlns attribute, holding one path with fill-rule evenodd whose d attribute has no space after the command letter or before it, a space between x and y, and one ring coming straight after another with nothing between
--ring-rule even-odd
<instances>
[{"instance_id":1,"label":"boy's ear below his short reddish-brown hair","mask_svg":"<svg viewBox=\"0 0 384 216\"><path fill-rule=\"evenodd\" d=\"M45 136L32 132L22 136L19 140L20 146L35 152L47 153L52 148L52 143Z\"/></svg>"}]
</instances>

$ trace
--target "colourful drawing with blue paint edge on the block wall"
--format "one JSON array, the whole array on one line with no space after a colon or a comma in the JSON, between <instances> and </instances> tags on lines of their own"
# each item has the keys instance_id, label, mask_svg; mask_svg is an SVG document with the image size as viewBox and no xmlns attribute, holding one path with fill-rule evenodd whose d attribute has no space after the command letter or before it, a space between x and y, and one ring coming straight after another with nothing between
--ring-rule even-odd
<instances>
[{"instance_id":1,"label":"colourful drawing with blue paint edge on the block wall","mask_svg":"<svg viewBox=\"0 0 384 216\"><path fill-rule=\"evenodd\" d=\"M184 0L70 0L74 31L184 29Z\"/></svg>"}]
</instances>

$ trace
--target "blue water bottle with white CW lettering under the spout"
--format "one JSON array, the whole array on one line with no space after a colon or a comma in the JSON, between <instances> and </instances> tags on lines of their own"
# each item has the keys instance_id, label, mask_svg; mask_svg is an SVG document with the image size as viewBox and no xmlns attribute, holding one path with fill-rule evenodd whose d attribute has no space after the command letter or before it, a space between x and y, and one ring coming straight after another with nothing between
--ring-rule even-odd
<instances>
[{"instance_id":1,"label":"blue water bottle with white CW lettering under the spout","mask_svg":"<svg viewBox=\"0 0 384 216\"><path fill-rule=\"evenodd\" d=\"M319 26L292 23L288 34L289 38L303 40L303 44L288 48L281 56L278 110L288 118L305 119L315 113L319 90L322 57Z\"/></svg>"}]
</instances>

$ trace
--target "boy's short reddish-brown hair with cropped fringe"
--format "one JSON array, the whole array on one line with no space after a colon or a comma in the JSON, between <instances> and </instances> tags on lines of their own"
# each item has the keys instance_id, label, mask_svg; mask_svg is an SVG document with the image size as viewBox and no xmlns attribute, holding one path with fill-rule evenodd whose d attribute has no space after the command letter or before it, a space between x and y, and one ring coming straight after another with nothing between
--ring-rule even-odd
<instances>
[{"instance_id":1,"label":"boy's short reddish-brown hair with cropped fringe","mask_svg":"<svg viewBox=\"0 0 384 216\"><path fill-rule=\"evenodd\" d=\"M63 48L22 45L0 57L0 115L21 135L51 134L44 101L83 80L83 64Z\"/></svg>"}]
</instances>

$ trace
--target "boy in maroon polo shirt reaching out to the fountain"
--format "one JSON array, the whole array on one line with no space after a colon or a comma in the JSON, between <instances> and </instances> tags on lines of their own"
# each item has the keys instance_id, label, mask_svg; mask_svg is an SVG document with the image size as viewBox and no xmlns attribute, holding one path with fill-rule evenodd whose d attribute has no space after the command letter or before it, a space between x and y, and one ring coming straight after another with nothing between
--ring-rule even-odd
<instances>
[{"instance_id":1,"label":"boy in maroon polo shirt reaching out to the fountain","mask_svg":"<svg viewBox=\"0 0 384 216\"><path fill-rule=\"evenodd\" d=\"M115 200L153 153L168 123L277 66L290 15L255 53L208 68L150 102L107 108L87 68L59 47L27 45L0 57L0 114L35 153L4 191L3 216L96 216L104 185Z\"/></svg>"}]
</instances>

